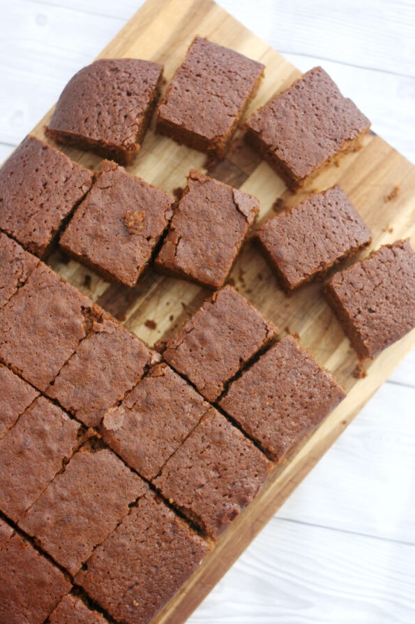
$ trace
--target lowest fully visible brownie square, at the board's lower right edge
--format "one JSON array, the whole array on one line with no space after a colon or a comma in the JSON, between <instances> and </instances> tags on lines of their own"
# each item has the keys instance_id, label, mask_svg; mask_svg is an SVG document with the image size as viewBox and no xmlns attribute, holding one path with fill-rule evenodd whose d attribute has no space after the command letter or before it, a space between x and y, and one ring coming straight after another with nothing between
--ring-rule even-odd
<instances>
[{"instance_id":1,"label":"lowest fully visible brownie square, at the board's lower right edge","mask_svg":"<svg viewBox=\"0 0 415 624\"><path fill-rule=\"evenodd\" d=\"M207 551L185 521L147 493L95 549L75 582L117 621L147 624Z\"/></svg>"}]
</instances>

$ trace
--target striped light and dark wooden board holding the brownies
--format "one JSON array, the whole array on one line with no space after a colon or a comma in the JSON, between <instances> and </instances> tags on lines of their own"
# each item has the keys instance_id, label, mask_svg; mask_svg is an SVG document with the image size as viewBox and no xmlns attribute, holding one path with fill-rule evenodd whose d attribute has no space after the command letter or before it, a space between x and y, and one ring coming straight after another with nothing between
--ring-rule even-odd
<instances>
[{"instance_id":1,"label":"striped light and dark wooden board holding the brownies","mask_svg":"<svg viewBox=\"0 0 415 624\"><path fill-rule=\"evenodd\" d=\"M211 0L148 0L100 57L158 61L165 66L165 78L169 82L196 34L266 65L265 80L247 116L300 75L294 66ZM353 94L346 95L353 98ZM43 126L50 115L48 113L33 130L36 136L45 139ZM73 149L64 151L85 166L99 168L98 157ZM135 165L128 170L172 193L186 184L190 168L206 171L206 156L149 131ZM209 172L259 198L258 223L275 210L299 203L315 191L339 182L372 231L371 249L407 237L414 246L415 167L373 133L365 138L363 150L348 154L338 167L332 166L312 182L312 187L295 195L287 191L269 166L243 145L240 136L227 160L212 166ZM280 201L275 208L277 198ZM59 252L51 257L50 265L150 345L174 333L210 293L195 284L158 275L152 269L146 271L133 289L110 285L75 261L64 261ZM358 380L353 376L358 363L356 354L326 305L321 284L310 284L292 296L285 296L273 271L252 242L244 245L230 282L278 325L280 335L298 333L301 343L345 387L347 398L283 465L273 470L255 501L222 535L216 549L188 583L160 611L155 619L157 623L186 621L415 344L413 331L367 364L367 377Z\"/></svg>"}]
</instances>

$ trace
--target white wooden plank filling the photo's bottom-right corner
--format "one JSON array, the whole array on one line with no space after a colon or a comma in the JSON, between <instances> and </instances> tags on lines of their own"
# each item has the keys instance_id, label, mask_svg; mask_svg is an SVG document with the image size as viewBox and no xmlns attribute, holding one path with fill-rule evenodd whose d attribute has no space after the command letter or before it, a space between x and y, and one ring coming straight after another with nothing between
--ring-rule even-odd
<instances>
[{"instance_id":1,"label":"white wooden plank filling the photo's bottom-right corner","mask_svg":"<svg viewBox=\"0 0 415 624\"><path fill-rule=\"evenodd\" d=\"M273 519L188 624L413 624L414 586L415 546Z\"/></svg>"}]
</instances>

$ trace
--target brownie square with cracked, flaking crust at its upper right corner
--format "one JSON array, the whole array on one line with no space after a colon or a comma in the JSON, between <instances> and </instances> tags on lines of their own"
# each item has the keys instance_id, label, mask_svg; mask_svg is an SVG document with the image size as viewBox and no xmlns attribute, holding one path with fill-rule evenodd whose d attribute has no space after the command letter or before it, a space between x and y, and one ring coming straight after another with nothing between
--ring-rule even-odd
<instances>
[{"instance_id":1,"label":"brownie square with cracked, flaking crust at its upper right corner","mask_svg":"<svg viewBox=\"0 0 415 624\"><path fill-rule=\"evenodd\" d=\"M258 210L252 195L191 170L156 268L220 288Z\"/></svg>"}]
</instances>

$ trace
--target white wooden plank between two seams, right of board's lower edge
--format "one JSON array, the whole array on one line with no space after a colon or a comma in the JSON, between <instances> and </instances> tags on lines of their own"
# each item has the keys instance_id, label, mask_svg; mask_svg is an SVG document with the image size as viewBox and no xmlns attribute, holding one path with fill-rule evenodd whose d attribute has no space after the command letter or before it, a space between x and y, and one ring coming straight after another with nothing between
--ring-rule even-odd
<instances>
[{"instance_id":1,"label":"white wooden plank between two seams, right of board's lower edge","mask_svg":"<svg viewBox=\"0 0 415 624\"><path fill-rule=\"evenodd\" d=\"M415 545L414 406L384 384L278 516Z\"/></svg>"}]
</instances>

